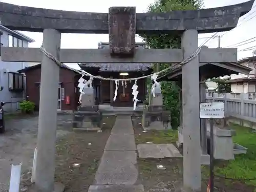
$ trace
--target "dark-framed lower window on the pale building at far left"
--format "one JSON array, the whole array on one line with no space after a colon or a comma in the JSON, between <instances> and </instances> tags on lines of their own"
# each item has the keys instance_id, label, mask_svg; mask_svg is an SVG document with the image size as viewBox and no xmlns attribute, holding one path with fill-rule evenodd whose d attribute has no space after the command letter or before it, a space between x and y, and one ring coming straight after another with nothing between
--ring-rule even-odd
<instances>
[{"instance_id":1,"label":"dark-framed lower window on the pale building at far left","mask_svg":"<svg viewBox=\"0 0 256 192\"><path fill-rule=\"evenodd\" d=\"M19 73L9 73L9 91L23 91L24 76Z\"/></svg>"}]
</instances>

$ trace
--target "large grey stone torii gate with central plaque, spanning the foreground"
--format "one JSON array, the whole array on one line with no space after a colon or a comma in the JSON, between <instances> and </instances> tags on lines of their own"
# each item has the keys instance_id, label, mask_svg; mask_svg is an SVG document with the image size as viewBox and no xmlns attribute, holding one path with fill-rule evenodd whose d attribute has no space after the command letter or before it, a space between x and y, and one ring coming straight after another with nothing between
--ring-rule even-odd
<instances>
[{"instance_id":1,"label":"large grey stone torii gate with central plaque, spanning the foreground","mask_svg":"<svg viewBox=\"0 0 256 192\"><path fill-rule=\"evenodd\" d=\"M43 47L61 62L178 63L198 49L198 33L229 31L251 10L245 3L192 11L136 13L112 7L109 13L58 11L0 3L1 24L12 30L43 32ZM182 49L135 49L137 33L182 33ZM110 50L60 49L61 33L109 33ZM37 48L2 48L3 61L41 62L36 187L54 188L59 67ZM199 62L237 62L237 49L202 49L182 68L183 185L201 189Z\"/></svg>"}]
</instances>

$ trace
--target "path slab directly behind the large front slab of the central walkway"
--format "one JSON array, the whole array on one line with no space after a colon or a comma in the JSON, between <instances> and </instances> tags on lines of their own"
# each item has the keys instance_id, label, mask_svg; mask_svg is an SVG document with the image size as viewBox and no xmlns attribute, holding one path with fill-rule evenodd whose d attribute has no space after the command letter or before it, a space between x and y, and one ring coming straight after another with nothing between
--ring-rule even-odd
<instances>
[{"instance_id":1,"label":"path slab directly behind the large front slab of the central walkway","mask_svg":"<svg viewBox=\"0 0 256 192\"><path fill-rule=\"evenodd\" d=\"M136 151L134 135L111 135L106 142L105 150Z\"/></svg>"}]
</instances>

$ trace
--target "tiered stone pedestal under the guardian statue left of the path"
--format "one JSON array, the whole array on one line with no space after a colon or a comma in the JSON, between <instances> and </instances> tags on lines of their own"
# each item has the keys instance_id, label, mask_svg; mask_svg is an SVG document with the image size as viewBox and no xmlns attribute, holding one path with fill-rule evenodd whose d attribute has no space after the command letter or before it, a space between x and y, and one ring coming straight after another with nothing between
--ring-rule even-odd
<instances>
[{"instance_id":1,"label":"tiered stone pedestal under the guardian statue left of the path","mask_svg":"<svg viewBox=\"0 0 256 192\"><path fill-rule=\"evenodd\" d=\"M85 88L82 95L82 104L74 113L73 130L98 131L101 126L102 113L99 112L99 105L95 105L92 88Z\"/></svg>"}]
</instances>

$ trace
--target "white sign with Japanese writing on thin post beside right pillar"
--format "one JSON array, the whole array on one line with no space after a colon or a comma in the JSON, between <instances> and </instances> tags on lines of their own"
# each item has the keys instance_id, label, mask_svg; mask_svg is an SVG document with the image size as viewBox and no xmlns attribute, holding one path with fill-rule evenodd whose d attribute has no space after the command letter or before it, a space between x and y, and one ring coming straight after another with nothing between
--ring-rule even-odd
<instances>
[{"instance_id":1,"label":"white sign with Japanese writing on thin post beside right pillar","mask_svg":"<svg viewBox=\"0 0 256 192\"><path fill-rule=\"evenodd\" d=\"M214 192L214 119L224 117L224 102L200 103L200 118L210 122L210 192Z\"/></svg>"}]
</instances>

